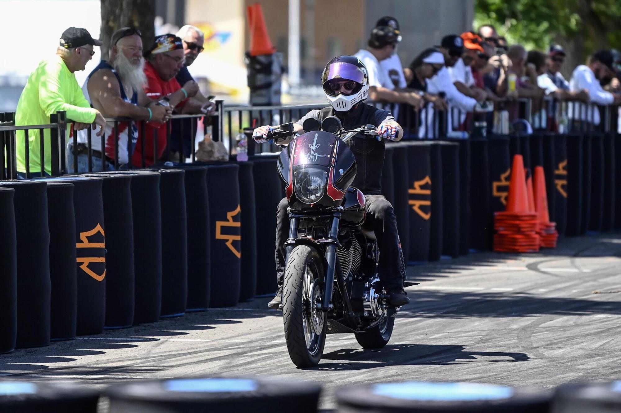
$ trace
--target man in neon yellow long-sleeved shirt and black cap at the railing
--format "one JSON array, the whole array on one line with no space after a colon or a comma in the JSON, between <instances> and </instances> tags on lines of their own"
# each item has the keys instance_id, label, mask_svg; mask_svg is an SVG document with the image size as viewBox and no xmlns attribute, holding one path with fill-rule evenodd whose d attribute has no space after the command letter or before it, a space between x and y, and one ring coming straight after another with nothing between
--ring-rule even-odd
<instances>
[{"instance_id":1,"label":"man in neon yellow long-sleeved shirt and black cap at the railing","mask_svg":"<svg viewBox=\"0 0 621 413\"><path fill-rule=\"evenodd\" d=\"M56 55L42 60L39 67L30 74L24 91L17 103L16 126L44 125L50 123L50 115L59 110L66 111L68 120L75 122L74 129L81 130L99 125L96 135L101 136L106 120L98 110L91 108L84 97L74 72L84 70L86 63L93 58L94 46L101 46L86 29L70 27L60 38ZM50 152L50 130L43 131L43 166L47 174L52 173ZM30 173L41 176L41 149L39 130L30 130L28 136ZM24 131L17 131L17 175L25 177L26 154Z\"/></svg>"}]
</instances>

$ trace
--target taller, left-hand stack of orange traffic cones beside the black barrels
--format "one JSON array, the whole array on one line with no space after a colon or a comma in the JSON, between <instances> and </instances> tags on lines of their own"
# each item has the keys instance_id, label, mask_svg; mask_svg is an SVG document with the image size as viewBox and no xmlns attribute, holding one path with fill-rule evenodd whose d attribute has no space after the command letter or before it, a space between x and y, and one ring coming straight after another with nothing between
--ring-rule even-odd
<instances>
[{"instance_id":1,"label":"taller, left-hand stack of orange traffic cones beside the black barrels","mask_svg":"<svg viewBox=\"0 0 621 413\"><path fill-rule=\"evenodd\" d=\"M532 195L531 195L532 197ZM511 169L507 210L494 213L494 251L537 252L537 213L528 206L528 190L522 155L515 155Z\"/></svg>"}]
</instances>

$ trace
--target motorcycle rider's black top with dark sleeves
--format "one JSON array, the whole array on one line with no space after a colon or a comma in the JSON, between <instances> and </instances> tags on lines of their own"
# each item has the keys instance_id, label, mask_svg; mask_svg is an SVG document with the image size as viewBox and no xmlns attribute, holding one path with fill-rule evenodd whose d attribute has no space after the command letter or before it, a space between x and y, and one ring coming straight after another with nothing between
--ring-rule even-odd
<instances>
[{"instance_id":1,"label":"motorcycle rider's black top with dark sleeves","mask_svg":"<svg viewBox=\"0 0 621 413\"><path fill-rule=\"evenodd\" d=\"M360 128L363 125L369 124L379 127L384 121L394 120L389 110L382 110L360 103L347 112L337 112L332 106L321 110L311 110L296 123L302 125L302 122L308 117L318 117L320 120L324 120L329 116L339 118L345 130ZM365 194L381 194L384 141L354 138L348 141L348 145L356 157L356 165L358 166L356 178L351 185Z\"/></svg>"}]
</instances>

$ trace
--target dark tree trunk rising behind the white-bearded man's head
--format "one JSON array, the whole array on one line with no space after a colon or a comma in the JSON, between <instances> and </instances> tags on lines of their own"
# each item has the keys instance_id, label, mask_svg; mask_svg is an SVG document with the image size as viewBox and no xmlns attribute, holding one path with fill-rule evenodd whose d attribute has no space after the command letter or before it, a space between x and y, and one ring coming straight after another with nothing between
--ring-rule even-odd
<instances>
[{"instance_id":1,"label":"dark tree trunk rising behind the white-bearded man's head","mask_svg":"<svg viewBox=\"0 0 621 413\"><path fill-rule=\"evenodd\" d=\"M155 38L155 0L101 0L102 59L108 58L112 33L121 27L135 27L142 33L142 46Z\"/></svg>"}]
</instances>

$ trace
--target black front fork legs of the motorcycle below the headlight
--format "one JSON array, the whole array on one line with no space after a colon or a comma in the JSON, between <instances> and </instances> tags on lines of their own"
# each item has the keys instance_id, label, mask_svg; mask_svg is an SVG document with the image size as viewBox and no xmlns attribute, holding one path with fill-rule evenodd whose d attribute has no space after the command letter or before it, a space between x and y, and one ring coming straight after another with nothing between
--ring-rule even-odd
<instances>
[{"instance_id":1,"label":"black front fork legs of the motorcycle below the headlight","mask_svg":"<svg viewBox=\"0 0 621 413\"><path fill-rule=\"evenodd\" d=\"M321 306L317 306L317 309L322 311L329 311L332 308L332 290L334 288L334 273L337 265L337 248L338 248L338 224L340 222L343 212L343 207L338 207L337 211L332 214L330 218L330 233L327 238L320 239L319 244L327 244L325 247L325 260L328 264L327 271L325 273L325 288L324 299ZM296 246L297 229L299 228L301 216L289 213L289 238L285 242L286 256L284 257L285 265L289 262L289 255Z\"/></svg>"}]
</instances>

